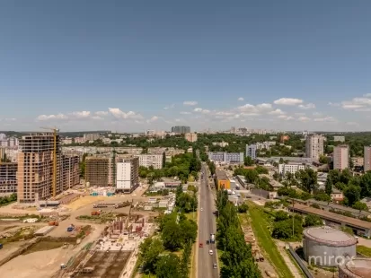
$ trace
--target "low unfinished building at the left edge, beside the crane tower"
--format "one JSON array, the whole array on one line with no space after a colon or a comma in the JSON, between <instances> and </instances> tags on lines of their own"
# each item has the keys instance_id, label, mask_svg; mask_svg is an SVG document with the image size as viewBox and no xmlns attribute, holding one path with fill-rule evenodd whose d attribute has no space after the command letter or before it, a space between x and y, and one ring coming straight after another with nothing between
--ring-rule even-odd
<instances>
[{"instance_id":1,"label":"low unfinished building at the left edge, beside the crane tower","mask_svg":"<svg viewBox=\"0 0 371 278\"><path fill-rule=\"evenodd\" d=\"M17 163L0 162L0 195L17 192L17 169Z\"/></svg>"}]
</instances>

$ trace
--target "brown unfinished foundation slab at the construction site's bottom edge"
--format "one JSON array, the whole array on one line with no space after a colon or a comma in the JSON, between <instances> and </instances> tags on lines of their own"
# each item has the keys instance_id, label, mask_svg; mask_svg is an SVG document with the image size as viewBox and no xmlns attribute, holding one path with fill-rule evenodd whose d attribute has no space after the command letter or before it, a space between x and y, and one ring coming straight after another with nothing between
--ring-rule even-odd
<instances>
[{"instance_id":1,"label":"brown unfinished foundation slab at the construction site's bottom edge","mask_svg":"<svg viewBox=\"0 0 371 278\"><path fill-rule=\"evenodd\" d=\"M80 273L75 278L119 278L131 251L96 251L85 267L94 267L93 273Z\"/></svg>"}]
</instances>

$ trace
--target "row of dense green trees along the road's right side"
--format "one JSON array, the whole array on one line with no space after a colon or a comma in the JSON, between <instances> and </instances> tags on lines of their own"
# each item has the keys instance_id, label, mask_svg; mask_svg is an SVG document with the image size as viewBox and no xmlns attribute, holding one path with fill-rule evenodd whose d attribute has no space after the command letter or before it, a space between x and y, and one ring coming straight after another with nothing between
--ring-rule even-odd
<instances>
[{"instance_id":1,"label":"row of dense green trees along the road's right side","mask_svg":"<svg viewBox=\"0 0 371 278\"><path fill-rule=\"evenodd\" d=\"M224 250L221 256L221 277L261 278L261 271L252 256L252 248L244 241L237 210L234 204L228 201L225 190L217 192L216 208L216 244L218 249Z\"/></svg>"}]
</instances>

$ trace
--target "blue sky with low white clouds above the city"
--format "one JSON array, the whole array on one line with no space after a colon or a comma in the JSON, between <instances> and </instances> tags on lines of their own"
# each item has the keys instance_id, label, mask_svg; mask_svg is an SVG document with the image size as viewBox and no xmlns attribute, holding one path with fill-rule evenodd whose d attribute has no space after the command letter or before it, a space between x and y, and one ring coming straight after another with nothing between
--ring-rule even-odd
<instances>
[{"instance_id":1,"label":"blue sky with low white clouds above the city","mask_svg":"<svg viewBox=\"0 0 371 278\"><path fill-rule=\"evenodd\" d=\"M1 1L0 130L371 130L371 1Z\"/></svg>"}]
</instances>

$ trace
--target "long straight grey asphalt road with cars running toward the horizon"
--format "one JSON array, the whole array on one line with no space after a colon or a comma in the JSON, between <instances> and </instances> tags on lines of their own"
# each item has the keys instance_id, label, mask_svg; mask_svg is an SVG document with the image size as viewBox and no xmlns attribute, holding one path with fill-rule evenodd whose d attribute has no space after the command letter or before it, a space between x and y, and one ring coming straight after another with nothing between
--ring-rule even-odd
<instances>
[{"instance_id":1,"label":"long straight grey asphalt road with cars running toward the horizon","mask_svg":"<svg viewBox=\"0 0 371 278\"><path fill-rule=\"evenodd\" d=\"M198 276L199 278L217 278L218 269L214 269L214 263L217 264L216 244L207 244L210 239L210 233L216 234L216 219L213 212L216 210L214 204L214 196L210 187L208 187L208 172L207 166L202 165L204 178L200 183L200 208L199 208L199 242L203 243L204 247L199 248L198 258ZM201 212L202 208L202 212ZM213 250L214 254L209 255L208 251Z\"/></svg>"}]
</instances>

